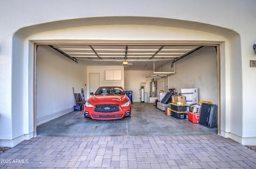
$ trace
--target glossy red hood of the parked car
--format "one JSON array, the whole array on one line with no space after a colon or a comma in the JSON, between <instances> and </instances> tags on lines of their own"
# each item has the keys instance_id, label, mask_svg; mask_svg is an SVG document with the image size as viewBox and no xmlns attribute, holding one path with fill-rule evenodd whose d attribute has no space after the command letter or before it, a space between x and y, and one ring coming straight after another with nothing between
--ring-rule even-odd
<instances>
[{"instance_id":1,"label":"glossy red hood of the parked car","mask_svg":"<svg viewBox=\"0 0 256 169\"><path fill-rule=\"evenodd\" d=\"M126 95L93 95L87 100L90 104L121 104L128 102Z\"/></svg>"}]
</instances>

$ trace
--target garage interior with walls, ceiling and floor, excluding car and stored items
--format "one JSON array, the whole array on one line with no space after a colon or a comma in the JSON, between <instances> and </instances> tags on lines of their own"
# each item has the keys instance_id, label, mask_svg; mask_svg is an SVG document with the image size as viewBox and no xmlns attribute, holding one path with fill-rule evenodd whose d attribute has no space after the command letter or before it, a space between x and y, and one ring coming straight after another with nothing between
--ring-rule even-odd
<instances>
[{"instance_id":1,"label":"garage interior with walls, ceiling and floor, excluding car and stored items","mask_svg":"<svg viewBox=\"0 0 256 169\"><path fill-rule=\"evenodd\" d=\"M217 45L171 43L36 44L38 136L152 136L218 134L217 128L166 116L155 107L158 92L198 88L199 100L218 103ZM123 65L124 61L128 62ZM106 79L109 71L119 79ZM150 83L156 83L152 91ZM73 112L74 93L90 98L99 86L132 92L132 118L85 120ZM143 91L142 91L143 86ZM72 91L74 88L74 92ZM141 94L143 92L143 96ZM154 93L152 93L154 92ZM84 129L88 132L84 132ZM116 130L120 129L122 130ZM106 132L106 129L108 132Z\"/></svg>"}]
</instances>

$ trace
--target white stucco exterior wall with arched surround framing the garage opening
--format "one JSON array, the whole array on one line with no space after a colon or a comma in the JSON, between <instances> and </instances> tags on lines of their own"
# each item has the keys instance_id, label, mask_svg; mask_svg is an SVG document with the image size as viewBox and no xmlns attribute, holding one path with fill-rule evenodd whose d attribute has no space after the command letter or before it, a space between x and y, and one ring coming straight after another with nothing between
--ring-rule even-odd
<instances>
[{"instance_id":1,"label":"white stucco exterior wall with arched surround framing the garage opening","mask_svg":"<svg viewBox=\"0 0 256 169\"><path fill-rule=\"evenodd\" d=\"M0 145L13 146L32 137L32 43L79 40L220 44L221 134L255 143L256 71L249 67L255 59L253 4L254 0L1 2Z\"/></svg>"}]
</instances>

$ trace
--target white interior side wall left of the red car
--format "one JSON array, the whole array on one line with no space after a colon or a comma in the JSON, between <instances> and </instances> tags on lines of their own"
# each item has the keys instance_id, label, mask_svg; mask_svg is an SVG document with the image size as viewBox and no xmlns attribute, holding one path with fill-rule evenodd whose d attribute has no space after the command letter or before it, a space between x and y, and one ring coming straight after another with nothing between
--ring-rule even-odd
<instances>
[{"instance_id":1,"label":"white interior side wall left of the red car","mask_svg":"<svg viewBox=\"0 0 256 169\"><path fill-rule=\"evenodd\" d=\"M73 111L73 94L86 90L86 65L76 63L51 47L39 46L36 75L36 124Z\"/></svg>"}]
</instances>

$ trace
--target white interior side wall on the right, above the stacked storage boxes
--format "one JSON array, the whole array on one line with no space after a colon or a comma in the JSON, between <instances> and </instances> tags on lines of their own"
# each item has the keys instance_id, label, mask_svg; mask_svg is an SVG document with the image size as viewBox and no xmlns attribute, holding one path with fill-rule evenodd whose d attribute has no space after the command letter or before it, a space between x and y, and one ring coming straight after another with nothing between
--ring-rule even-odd
<instances>
[{"instance_id":1,"label":"white interior side wall on the right, above the stacked storage boxes","mask_svg":"<svg viewBox=\"0 0 256 169\"><path fill-rule=\"evenodd\" d=\"M175 62L175 74L169 76L169 88L198 88L198 99L218 105L217 56L214 47L205 46ZM170 66L170 63L166 64ZM164 66L166 66L164 65ZM164 80L158 79L158 91Z\"/></svg>"}]
</instances>

